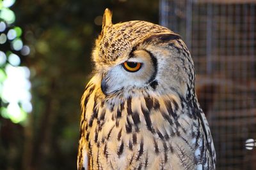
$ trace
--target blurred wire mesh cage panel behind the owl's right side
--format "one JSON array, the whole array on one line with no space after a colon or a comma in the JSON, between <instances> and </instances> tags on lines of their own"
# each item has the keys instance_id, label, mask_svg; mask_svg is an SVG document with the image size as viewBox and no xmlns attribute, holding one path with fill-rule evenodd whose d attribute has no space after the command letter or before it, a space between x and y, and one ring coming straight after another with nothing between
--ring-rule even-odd
<instances>
[{"instance_id":1,"label":"blurred wire mesh cage panel behind the owl's right side","mask_svg":"<svg viewBox=\"0 0 256 170\"><path fill-rule=\"evenodd\" d=\"M161 0L161 25L195 62L196 92L211 125L217 169L255 169L256 1Z\"/></svg>"}]
</instances>

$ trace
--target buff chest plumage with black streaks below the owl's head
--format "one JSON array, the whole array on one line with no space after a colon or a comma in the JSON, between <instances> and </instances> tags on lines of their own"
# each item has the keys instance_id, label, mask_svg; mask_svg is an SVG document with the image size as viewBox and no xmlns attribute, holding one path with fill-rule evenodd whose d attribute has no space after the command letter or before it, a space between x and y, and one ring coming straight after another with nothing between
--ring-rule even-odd
<instances>
[{"instance_id":1,"label":"buff chest plumage with black streaks below the owl's head","mask_svg":"<svg viewBox=\"0 0 256 170\"><path fill-rule=\"evenodd\" d=\"M137 96L118 104L98 99L94 93L83 98L81 127L90 169L202 166L202 127L184 113L179 98Z\"/></svg>"}]
</instances>

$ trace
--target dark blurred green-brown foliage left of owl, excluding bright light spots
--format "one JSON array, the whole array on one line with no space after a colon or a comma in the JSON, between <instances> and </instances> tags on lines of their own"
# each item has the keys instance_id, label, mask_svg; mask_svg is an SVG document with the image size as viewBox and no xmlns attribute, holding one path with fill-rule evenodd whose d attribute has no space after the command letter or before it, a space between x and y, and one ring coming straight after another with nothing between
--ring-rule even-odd
<instances>
[{"instance_id":1,"label":"dark blurred green-brown foliage left of owl, excluding bright light spots","mask_svg":"<svg viewBox=\"0 0 256 170\"><path fill-rule=\"evenodd\" d=\"M158 23L159 2L22 0L10 8L31 48L33 111L24 124L0 116L0 169L76 169L80 99L92 71L92 46L105 8L113 23ZM12 26L12 25L11 25ZM9 45L1 46L8 50Z\"/></svg>"}]
</instances>

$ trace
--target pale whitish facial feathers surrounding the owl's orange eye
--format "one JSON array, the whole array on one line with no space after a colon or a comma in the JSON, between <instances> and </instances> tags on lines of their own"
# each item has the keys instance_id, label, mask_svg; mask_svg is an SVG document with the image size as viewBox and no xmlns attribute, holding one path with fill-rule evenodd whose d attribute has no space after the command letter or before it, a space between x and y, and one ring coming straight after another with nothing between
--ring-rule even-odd
<instances>
[{"instance_id":1,"label":"pale whitish facial feathers surrounding the owl's orange eye","mask_svg":"<svg viewBox=\"0 0 256 170\"><path fill-rule=\"evenodd\" d=\"M124 62L140 63L141 67L136 72L129 72L124 68ZM111 67L103 75L102 80L106 83L106 89L103 89L104 93L111 94L132 86L143 87L150 83L156 69L150 53L145 50L135 50L129 56L117 62L115 66Z\"/></svg>"}]
</instances>

